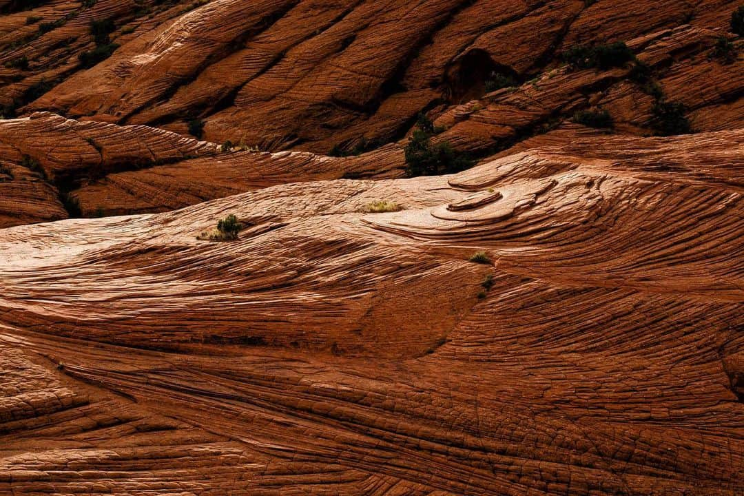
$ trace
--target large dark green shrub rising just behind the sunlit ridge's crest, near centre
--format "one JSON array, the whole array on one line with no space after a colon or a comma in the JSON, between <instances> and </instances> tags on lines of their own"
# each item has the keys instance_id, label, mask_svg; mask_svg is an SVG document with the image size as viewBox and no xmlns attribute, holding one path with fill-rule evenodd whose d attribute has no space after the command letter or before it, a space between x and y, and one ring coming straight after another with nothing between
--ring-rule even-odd
<instances>
[{"instance_id":1,"label":"large dark green shrub rising just behind the sunlit ridge's crest, near centre","mask_svg":"<svg viewBox=\"0 0 744 496\"><path fill-rule=\"evenodd\" d=\"M458 173L475 165L469 156L455 151L448 141L432 144L432 135L441 132L431 120L419 117L417 129L405 145L405 175L438 175Z\"/></svg>"}]
</instances>

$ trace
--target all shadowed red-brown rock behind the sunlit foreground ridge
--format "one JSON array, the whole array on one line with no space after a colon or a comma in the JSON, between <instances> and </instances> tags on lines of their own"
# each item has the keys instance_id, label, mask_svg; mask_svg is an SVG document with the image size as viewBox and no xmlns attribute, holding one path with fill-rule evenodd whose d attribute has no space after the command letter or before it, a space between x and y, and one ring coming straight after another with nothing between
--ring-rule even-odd
<instances>
[{"instance_id":1,"label":"all shadowed red-brown rock behind the sunlit foreground ridge","mask_svg":"<svg viewBox=\"0 0 744 496\"><path fill-rule=\"evenodd\" d=\"M292 181L400 177L420 112L445 129L435 141L483 161L554 129L564 141L590 133L570 123L586 109L608 112L615 134L658 132L659 103L679 108L693 131L737 129L735 7L5 2L0 104L19 120L0 123L0 222L161 212ZM626 42L635 61L563 62L573 48L613 41ZM222 144L253 152L220 152ZM367 153L255 153L280 149Z\"/></svg>"}]
</instances>

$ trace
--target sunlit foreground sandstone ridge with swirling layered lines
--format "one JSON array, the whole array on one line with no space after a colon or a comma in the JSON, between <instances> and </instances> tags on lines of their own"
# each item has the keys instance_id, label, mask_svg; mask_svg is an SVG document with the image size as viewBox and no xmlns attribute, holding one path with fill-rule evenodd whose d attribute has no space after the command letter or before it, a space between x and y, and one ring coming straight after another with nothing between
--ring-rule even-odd
<instances>
[{"instance_id":1,"label":"sunlit foreground sandstone ridge with swirling layered lines","mask_svg":"<svg viewBox=\"0 0 744 496\"><path fill-rule=\"evenodd\" d=\"M0 493L740 494L744 133L549 141L0 231Z\"/></svg>"}]
</instances>

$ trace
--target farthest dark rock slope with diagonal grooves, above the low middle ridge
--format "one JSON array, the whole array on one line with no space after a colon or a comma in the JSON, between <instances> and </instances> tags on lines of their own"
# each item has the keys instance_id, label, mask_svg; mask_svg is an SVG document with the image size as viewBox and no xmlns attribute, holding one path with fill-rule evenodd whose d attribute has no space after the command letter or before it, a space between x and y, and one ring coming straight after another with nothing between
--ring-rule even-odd
<instances>
[{"instance_id":1,"label":"farthest dark rock slope with diagonal grooves, above the low middle ridge","mask_svg":"<svg viewBox=\"0 0 744 496\"><path fill-rule=\"evenodd\" d=\"M240 0L46 3L0 18L4 102L19 112L145 123L261 149L326 153L362 137L399 140L425 109L464 122L452 141L504 146L575 109L606 106L619 132L648 134L650 103L628 71L566 74L559 54L577 44L627 42L667 98L682 101L698 131L734 129L743 115L742 57L711 57L737 1ZM149 12L148 12L149 11ZM34 37L36 24L65 20ZM109 59L83 70L94 46L89 23L112 19ZM60 21L61 22L61 21ZM33 35L33 36L32 36ZM29 37L31 36L31 37ZM27 57L29 67L13 62ZM484 95L490 71L513 74L513 95ZM0 74L1 77L1 74ZM20 80L19 80L20 78ZM39 86L45 80L54 88ZM711 83L714 81L714 83ZM59 83L59 84L57 84ZM49 85L47 85L49 86ZM40 88L40 89L39 89ZM31 89L31 94L24 91ZM22 101L21 101L22 100ZM35 100L35 101L34 101ZM480 100L482 112L456 110ZM30 104L25 106L26 104ZM712 110L714 109L714 110ZM727 115L724 120L706 112ZM484 141L484 138L487 138Z\"/></svg>"}]
</instances>

